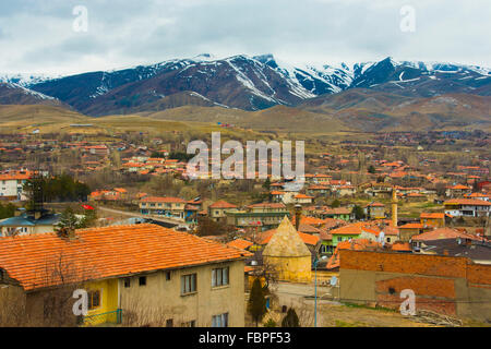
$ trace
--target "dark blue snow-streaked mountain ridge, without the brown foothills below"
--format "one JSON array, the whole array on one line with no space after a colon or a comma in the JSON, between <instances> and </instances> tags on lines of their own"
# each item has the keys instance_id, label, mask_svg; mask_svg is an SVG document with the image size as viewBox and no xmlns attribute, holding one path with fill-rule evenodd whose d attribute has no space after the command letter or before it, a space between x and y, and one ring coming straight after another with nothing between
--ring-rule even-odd
<instances>
[{"instance_id":1,"label":"dark blue snow-streaked mountain ridge, without the brown foothills below","mask_svg":"<svg viewBox=\"0 0 491 349\"><path fill-rule=\"evenodd\" d=\"M24 87L91 116L173 108L179 103L260 110L297 106L350 88L409 97L491 95L491 72L487 68L392 58L356 64L291 65L273 55L217 59L204 53L117 71L20 81ZM179 97L169 99L176 94Z\"/></svg>"}]
</instances>

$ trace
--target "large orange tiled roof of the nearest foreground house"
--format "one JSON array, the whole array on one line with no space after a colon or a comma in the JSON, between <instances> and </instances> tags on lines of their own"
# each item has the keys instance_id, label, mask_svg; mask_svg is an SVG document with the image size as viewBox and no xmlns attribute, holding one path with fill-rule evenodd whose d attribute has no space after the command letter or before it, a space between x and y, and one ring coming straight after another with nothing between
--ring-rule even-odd
<instances>
[{"instance_id":1,"label":"large orange tiled roof of the nearest foreground house","mask_svg":"<svg viewBox=\"0 0 491 349\"><path fill-rule=\"evenodd\" d=\"M75 240L57 233L0 238L0 268L25 290L60 285L47 277L67 265L70 281L239 260L251 253L156 225L116 226L76 231Z\"/></svg>"}]
</instances>

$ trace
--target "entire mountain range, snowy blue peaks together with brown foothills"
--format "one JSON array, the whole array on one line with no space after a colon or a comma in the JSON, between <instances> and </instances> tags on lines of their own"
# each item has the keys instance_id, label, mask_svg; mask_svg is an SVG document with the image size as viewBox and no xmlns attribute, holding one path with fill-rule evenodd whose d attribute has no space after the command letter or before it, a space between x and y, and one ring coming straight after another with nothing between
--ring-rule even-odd
<instances>
[{"instance_id":1,"label":"entire mountain range, snowy blue peaks together with brown foothills","mask_svg":"<svg viewBox=\"0 0 491 349\"><path fill-rule=\"evenodd\" d=\"M247 119L248 113L240 111L294 108L289 115L300 119L328 118L339 128L369 131L405 129L418 125L418 120L424 128L491 122L490 69L392 58L291 65L273 55L225 59L201 55L56 79L0 74L0 104L63 106L92 117L159 113L185 119L184 111L165 111L189 112L181 107L195 107ZM282 122L280 113L276 119Z\"/></svg>"}]
</instances>

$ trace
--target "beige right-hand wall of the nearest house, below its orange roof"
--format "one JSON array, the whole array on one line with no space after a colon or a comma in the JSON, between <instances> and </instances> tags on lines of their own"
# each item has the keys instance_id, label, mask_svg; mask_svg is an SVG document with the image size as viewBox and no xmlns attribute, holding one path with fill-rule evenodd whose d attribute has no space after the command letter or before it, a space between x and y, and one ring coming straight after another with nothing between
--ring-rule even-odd
<instances>
[{"instance_id":1,"label":"beige right-hand wall of the nearest house, below its orange roof","mask_svg":"<svg viewBox=\"0 0 491 349\"><path fill-rule=\"evenodd\" d=\"M229 267L229 285L212 288L212 269ZM143 323L164 323L172 318L173 326L196 321L196 326L211 326L212 316L228 313L229 326L244 325L244 262L227 262L175 269L170 280L166 272L146 275L146 286L139 286L139 277L131 277L131 287L119 280L122 316L136 312ZM196 274L196 292L181 296L181 276ZM142 324L143 325L143 324Z\"/></svg>"}]
</instances>

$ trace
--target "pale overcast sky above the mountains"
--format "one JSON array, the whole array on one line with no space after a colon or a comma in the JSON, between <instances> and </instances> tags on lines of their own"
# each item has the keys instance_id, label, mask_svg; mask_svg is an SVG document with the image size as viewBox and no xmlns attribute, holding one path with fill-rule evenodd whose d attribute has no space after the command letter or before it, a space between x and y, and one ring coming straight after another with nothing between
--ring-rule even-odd
<instances>
[{"instance_id":1,"label":"pale overcast sky above the mountains","mask_svg":"<svg viewBox=\"0 0 491 349\"><path fill-rule=\"evenodd\" d=\"M86 33L73 29L76 5L87 9ZM415 32L400 29L404 5L416 11ZM490 0L0 0L0 72L70 74L203 52L489 68L490 33Z\"/></svg>"}]
</instances>

